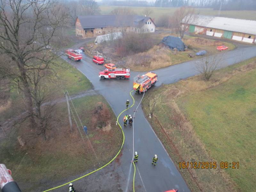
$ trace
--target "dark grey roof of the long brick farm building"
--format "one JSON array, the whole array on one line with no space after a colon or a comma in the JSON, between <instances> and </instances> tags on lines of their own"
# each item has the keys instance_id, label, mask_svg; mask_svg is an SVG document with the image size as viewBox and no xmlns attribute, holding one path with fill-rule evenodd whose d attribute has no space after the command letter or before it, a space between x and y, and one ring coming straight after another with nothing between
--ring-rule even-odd
<instances>
[{"instance_id":1,"label":"dark grey roof of the long brick farm building","mask_svg":"<svg viewBox=\"0 0 256 192\"><path fill-rule=\"evenodd\" d=\"M141 28L146 21L151 19L150 17L140 15L88 15L77 16L77 18L84 29L120 26L133 26Z\"/></svg>"}]
</instances>

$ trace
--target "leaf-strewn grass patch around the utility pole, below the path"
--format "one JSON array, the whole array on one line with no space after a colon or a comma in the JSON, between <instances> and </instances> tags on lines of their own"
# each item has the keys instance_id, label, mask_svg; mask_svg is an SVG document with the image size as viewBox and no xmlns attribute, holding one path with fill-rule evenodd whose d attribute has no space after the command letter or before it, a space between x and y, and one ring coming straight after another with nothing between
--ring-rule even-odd
<instances>
[{"instance_id":1,"label":"leaf-strewn grass patch around the utility pole, below the path","mask_svg":"<svg viewBox=\"0 0 256 192\"><path fill-rule=\"evenodd\" d=\"M100 120L97 119L98 124L93 124L92 119L97 115L95 110L102 106L102 102L107 106L105 112L108 112L109 118L106 126L100 128ZM75 99L73 103L82 124L88 127L87 132L93 149L78 118L76 121L82 136L74 118L73 131L70 132L66 102L57 105L54 115L56 129L48 132L48 135L52 136L48 137L47 142L37 137L36 140L32 139L33 145L27 144L20 148L16 143L17 132L0 142L0 162L12 170L13 178L22 190L35 191L39 186L47 189L54 181L86 172L94 166L100 167L100 164L106 164L116 155L122 143L122 133L116 126L116 117L107 101L101 95L94 95ZM24 132L26 129L22 127L22 130ZM26 137L22 133L21 135Z\"/></svg>"}]
</instances>

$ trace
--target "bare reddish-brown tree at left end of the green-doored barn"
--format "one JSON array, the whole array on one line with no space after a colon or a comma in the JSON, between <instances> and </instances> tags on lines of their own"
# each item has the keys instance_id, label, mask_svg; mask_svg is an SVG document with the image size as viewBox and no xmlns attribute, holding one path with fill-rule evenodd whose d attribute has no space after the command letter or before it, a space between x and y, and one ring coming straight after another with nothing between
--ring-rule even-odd
<instances>
[{"instance_id":1,"label":"bare reddish-brown tree at left end of the green-doored barn","mask_svg":"<svg viewBox=\"0 0 256 192\"><path fill-rule=\"evenodd\" d=\"M176 33L180 35L181 39L184 37L185 31L188 30L189 23L196 19L194 13L195 9L191 7L180 7L174 12Z\"/></svg>"}]
</instances>

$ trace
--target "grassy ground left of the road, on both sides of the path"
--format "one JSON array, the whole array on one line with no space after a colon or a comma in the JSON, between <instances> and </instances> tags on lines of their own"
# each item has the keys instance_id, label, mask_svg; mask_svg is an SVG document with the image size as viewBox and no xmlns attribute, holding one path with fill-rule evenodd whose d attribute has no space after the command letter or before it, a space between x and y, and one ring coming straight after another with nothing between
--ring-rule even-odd
<instances>
[{"instance_id":1,"label":"grassy ground left of the road, on both sides of the path","mask_svg":"<svg viewBox=\"0 0 256 192\"><path fill-rule=\"evenodd\" d=\"M76 68L62 59L56 62L62 68L54 66L60 80L47 84L52 99L64 98L65 91L74 95L92 88L90 81ZM9 100L10 104L1 108L1 124L24 112L22 95L17 90L11 91ZM73 131L70 132L66 102L56 105L49 123L51 129L46 132L47 141L36 133L32 134L26 122L16 124L11 131L8 129L7 137L1 134L0 162L12 170L12 177L22 191L36 191L38 187L47 189L54 185L54 181L100 167L99 163L106 164L116 155L122 133L116 126L116 116L108 102L101 95L93 95L74 99L73 103L82 125L88 127L88 136L96 156L81 124L78 124L81 134L78 131L74 117ZM76 121L79 123L78 118ZM26 142L24 147L19 145L18 136Z\"/></svg>"}]
</instances>

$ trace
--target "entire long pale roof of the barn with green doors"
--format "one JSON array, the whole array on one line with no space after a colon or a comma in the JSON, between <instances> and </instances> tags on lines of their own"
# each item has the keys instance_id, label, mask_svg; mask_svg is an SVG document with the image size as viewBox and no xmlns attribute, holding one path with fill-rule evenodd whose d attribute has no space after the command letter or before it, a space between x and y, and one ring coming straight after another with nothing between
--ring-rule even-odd
<instances>
[{"instance_id":1,"label":"entire long pale roof of the barn with green doors","mask_svg":"<svg viewBox=\"0 0 256 192\"><path fill-rule=\"evenodd\" d=\"M193 15L188 24L256 35L255 20Z\"/></svg>"}]
</instances>

